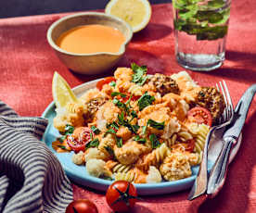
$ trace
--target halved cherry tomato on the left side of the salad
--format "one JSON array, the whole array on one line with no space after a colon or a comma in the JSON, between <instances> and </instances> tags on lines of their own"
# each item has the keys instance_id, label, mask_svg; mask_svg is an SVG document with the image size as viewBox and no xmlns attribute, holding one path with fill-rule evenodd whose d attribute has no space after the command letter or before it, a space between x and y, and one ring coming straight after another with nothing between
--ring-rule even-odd
<instances>
[{"instance_id":1,"label":"halved cherry tomato on the left side of the salad","mask_svg":"<svg viewBox=\"0 0 256 213\"><path fill-rule=\"evenodd\" d=\"M79 127L67 136L67 144L70 148L78 153L85 149L85 145L93 140L95 133L88 127Z\"/></svg>"}]
</instances>

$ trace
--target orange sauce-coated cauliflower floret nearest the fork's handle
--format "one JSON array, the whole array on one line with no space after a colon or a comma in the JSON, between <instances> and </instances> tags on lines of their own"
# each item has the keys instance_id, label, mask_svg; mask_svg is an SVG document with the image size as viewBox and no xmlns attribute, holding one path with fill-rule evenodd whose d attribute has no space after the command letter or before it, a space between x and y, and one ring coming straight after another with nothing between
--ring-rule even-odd
<instances>
[{"instance_id":1,"label":"orange sauce-coated cauliflower floret nearest the fork's handle","mask_svg":"<svg viewBox=\"0 0 256 213\"><path fill-rule=\"evenodd\" d=\"M172 153L163 160L160 165L160 173L166 181L176 181L191 176L192 171L188 157L183 153Z\"/></svg>"}]
</instances>

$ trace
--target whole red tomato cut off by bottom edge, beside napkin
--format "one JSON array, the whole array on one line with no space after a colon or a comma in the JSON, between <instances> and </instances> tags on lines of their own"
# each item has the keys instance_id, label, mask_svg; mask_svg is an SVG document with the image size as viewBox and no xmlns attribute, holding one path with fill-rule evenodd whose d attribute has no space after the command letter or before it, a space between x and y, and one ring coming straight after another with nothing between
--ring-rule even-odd
<instances>
[{"instance_id":1,"label":"whole red tomato cut off by bottom edge, beside napkin","mask_svg":"<svg viewBox=\"0 0 256 213\"><path fill-rule=\"evenodd\" d=\"M74 200L66 208L66 213L98 213L96 205L86 199Z\"/></svg>"}]
</instances>

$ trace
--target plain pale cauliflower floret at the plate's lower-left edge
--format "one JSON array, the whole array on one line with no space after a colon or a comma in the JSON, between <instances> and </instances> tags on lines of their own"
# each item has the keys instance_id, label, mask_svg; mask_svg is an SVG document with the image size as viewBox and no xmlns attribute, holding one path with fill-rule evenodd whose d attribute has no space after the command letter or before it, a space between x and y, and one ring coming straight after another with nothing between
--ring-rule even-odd
<instances>
[{"instance_id":1,"label":"plain pale cauliflower floret at the plate's lower-left edge","mask_svg":"<svg viewBox=\"0 0 256 213\"><path fill-rule=\"evenodd\" d=\"M90 175L98 178L105 173L105 164L102 159L89 159L86 162L86 170Z\"/></svg>"}]
</instances>

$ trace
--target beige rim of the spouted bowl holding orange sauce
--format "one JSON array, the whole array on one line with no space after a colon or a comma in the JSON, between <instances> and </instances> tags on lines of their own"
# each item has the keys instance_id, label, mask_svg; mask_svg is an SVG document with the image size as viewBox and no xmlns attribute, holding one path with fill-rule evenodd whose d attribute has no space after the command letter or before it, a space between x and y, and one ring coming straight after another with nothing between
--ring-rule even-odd
<instances>
[{"instance_id":1,"label":"beige rim of the spouted bowl holding orange sauce","mask_svg":"<svg viewBox=\"0 0 256 213\"><path fill-rule=\"evenodd\" d=\"M52 39L52 31L58 26L59 23L65 21L67 19L72 19L72 18L75 18L75 17L83 17L83 16L87 16L87 15L108 17L110 19L116 19L117 21L122 22L122 24L128 29L128 31L129 31L128 36L125 39L125 42L122 43L118 52L116 52L116 53L96 52L96 53L90 53L90 54L76 54L76 53L71 53L71 52L68 52L66 50L63 50L60 47L58 47L57 44L55 44L55 42ZM58 51L62 54L65 54L65 55L69 55L69 56L98 56L98 55L121 56L125 52L125 46L127 44L129 44L130 41L132 40L133 34L134 34L134 32L132 30L132 27L126 21L124 21L124 20L122 20L118 17L112 16L112 15L109 15L109 14L106 14L106 13L103 13L103 12L79 12L79 13L64 16L64 17L56 20L55 22L53 22L47 30L46 37L47 37L48 44L50 44L52 48L54 48L56 51Z\"/></svg>"}]
</instances>

